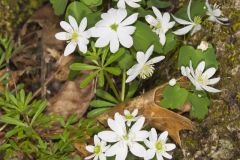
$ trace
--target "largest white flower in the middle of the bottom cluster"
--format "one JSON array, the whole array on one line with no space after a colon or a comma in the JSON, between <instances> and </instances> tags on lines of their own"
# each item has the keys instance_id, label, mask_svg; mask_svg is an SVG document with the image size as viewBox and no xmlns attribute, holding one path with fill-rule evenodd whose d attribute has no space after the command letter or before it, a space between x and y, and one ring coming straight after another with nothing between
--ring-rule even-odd
<instances>
[{"instance_id":1,"label":"largest white flower in the middle of the bottom cluster","mask_svg":"<svg viewBox=\"0 0 240 160\"><path fill-rule=\"evenodd\" d=\"M144 157L146 149L138 142L144 141L149 133L141 130L145 121L140 117L131 128L127 129L123 116L115 114L115 120L108 119L108 125L112 131L102 131L98 136L109 143L114 143L107 151L107 156L116 155L115 160L125 160L130 152L137 157Z\"/></svg>"}]
</instances>

